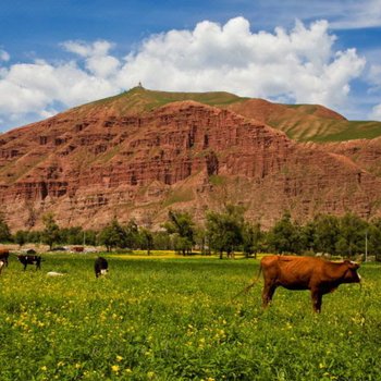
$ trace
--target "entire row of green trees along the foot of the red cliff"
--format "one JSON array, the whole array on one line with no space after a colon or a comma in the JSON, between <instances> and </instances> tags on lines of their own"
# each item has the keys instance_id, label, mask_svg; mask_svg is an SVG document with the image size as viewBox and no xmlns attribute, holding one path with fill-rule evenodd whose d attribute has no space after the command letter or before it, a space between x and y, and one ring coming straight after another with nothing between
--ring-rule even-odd
<instances>
[{"instance_id":1,"label":"entire row of green trees along the foot of the red cliff","mask_svg":"<svg viewBox=\"0 0 381 381\"><path fill-rule=\"evenodd\" d=\"M205 226L196 225L187 212L170 211L160 231L138 226L135 221L120 224L113 219L100 231L82 228L60 229L53 214L44 217L44 230L17 231L11 234L4 218L0 216L0 242L45 243L53 245L105 245L113 248L174 249L189 255L197 248L202 254L219 253L222 258L243 251L246 256L265 253L315 254L328 253L353 257L369 254L381 260L381 219L367 222L356 214L343 217L319 214L302 225L292 220L290 212L269 231L259 223L244 219L244 209L228 205L222 212L209 211Z\"/></svg>"}]
</instances>

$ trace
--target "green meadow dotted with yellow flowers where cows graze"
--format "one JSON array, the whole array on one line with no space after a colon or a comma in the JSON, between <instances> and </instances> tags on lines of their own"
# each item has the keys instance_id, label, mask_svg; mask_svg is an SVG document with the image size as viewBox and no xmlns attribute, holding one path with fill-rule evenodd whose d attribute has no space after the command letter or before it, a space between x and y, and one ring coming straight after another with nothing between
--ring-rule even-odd
<instances>
[{"instance_id":1,"label":"green meadow dotted with yellow flowers where cows graze","mask_svg":"<svg viewBox=\"0 0 381 381\"><path fill-rule=\"evenodd\" d=\"M46 255L0 275L0 380L380 380L381 266L311 311L279 290L260 308L255 260ZM47 276L61 271L61 278Z\"/></svg>"}]
</instances>

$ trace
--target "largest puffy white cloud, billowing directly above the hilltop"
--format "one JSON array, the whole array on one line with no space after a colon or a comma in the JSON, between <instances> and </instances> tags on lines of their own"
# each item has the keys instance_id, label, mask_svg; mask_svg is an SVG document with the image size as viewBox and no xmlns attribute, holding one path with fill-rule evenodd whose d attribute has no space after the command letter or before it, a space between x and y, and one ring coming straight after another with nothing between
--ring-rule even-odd
<instances>
[{"instance_id":1,"label":"largest puffy white cloud, billowing directly above the hilltop","mask_svg":"<svg viewBox=\"0 0 381 381\"><path fill-rule=\"evenodd\" d=\"M354 49L333 51L334 40L325 21L309 27L297 22L290 33L251 33L243 17L223 26L202 22L190 32L171 30L146 40L126 58L120 82L125 87L140 79L152 88L220 89L337 107L345 103L349 82L360 75L365 60Z\"/></svg>"}]
</instances>

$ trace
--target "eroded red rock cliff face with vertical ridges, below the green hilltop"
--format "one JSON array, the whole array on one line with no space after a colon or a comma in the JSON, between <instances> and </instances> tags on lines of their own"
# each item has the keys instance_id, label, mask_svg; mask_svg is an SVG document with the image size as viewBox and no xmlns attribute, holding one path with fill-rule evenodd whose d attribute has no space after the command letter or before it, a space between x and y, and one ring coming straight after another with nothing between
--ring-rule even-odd
<instances>
[{"instance_id":1,"label":"eroded red rock cliff face with vertical ridges, below the green hilltop","mask_svg":"<svg viewBox=\"0 0 381 381\"><path fill-rule=\"evenodd\" d=\"M169 208L202 220L226 201L265 228L285 209L300 222L380 216L381 180L361 164L194 101L122 116L73 109L1 136L0 201L13 230L40 228L47 211L61 226L155 225Z\"/></svg>"}]
</instances>

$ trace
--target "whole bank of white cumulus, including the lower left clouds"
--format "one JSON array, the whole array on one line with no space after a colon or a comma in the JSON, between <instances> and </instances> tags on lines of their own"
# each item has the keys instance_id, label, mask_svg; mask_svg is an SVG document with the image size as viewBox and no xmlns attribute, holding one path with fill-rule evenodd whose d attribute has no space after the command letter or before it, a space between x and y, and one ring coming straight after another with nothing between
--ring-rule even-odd
<instances>
[{"instance_id":1,"label":"whole bank of white cumulus, including the lower left clouds","mask_svg":"<svg viewBox=\"0 0 381 381\"><path fill-rule=\"evenodd\" d=\"M66 41L69 57L62 62L8 67L0 62L0 118L45 118L60 111L57 105L62 109L111 96L140 81L160 90L226 90L335 108L345 103L365 59L355 49L335 51L334 41L325 21L253 33L244 17L152 35L124 58L111 53L110 41Z\"/></svg>"}]
</instances>

